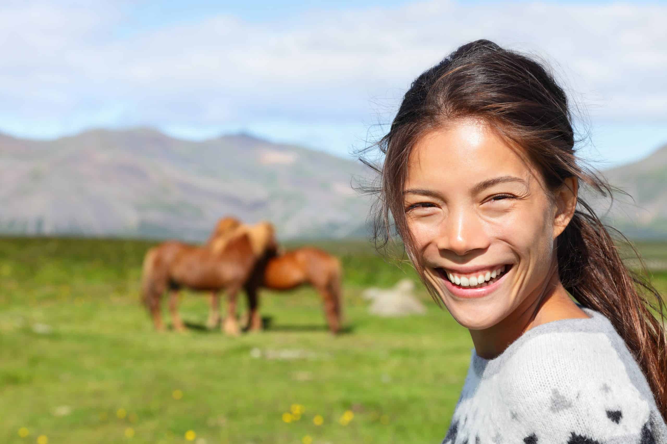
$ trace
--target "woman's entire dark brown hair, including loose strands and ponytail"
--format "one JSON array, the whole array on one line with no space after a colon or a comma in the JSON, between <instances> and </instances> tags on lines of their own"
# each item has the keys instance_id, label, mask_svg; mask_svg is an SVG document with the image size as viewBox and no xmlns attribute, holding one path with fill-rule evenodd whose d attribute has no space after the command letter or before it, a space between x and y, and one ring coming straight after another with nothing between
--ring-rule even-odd
<instances>
[{"instance_id":1,"label":"woman's entire dark brown hair, including loose strands and ponytail","mask_svg":"<svg viewBox=\"0 0 667 444\"><path fill-rule=\"evenodd\" d=\"M360 160L379 174L374 234L385 246L394 234L436 302L439 298L424 278L404 212L403 188L408 157L426 132L447 122L476 118L518 146L544 177L550 190L568 177L612 196L614 188L575 156L575 136L568 98L554 77L526 55L508 51L488 40L459 47L412 83L389 132L366 154L379 148L381 164ZM614 240L611 233L618 239ZM638 361L667 419L667 348L664 301L642 276L630 270L618 253L618 242L632 245L618 230L605 226L581 198L570 224L556 240L558 273L564 287L586 308L610 320ZM632 252L638 252L632 247ZM657 316L656 316L657 315Z\"/></svg>"}]
</instances>

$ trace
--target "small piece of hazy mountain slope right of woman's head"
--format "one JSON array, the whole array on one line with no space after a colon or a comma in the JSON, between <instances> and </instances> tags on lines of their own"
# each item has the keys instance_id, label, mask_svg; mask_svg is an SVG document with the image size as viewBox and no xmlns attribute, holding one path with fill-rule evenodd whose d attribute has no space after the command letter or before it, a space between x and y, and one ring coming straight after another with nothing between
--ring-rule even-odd
<instances>
[{"instance_id":1,"label":"small piece of hazy mountain slope right of woman's head","mask_svg":"<svg viewBox=\"0 0 667 444\"><path fill-rule=\"evenodd\" d=\"M604 220L632 238L667 238L667 144L648 157L603 172L616 193L609 208L598 202ZM608 210L608 212L606 212Z\"/></svg>"}]
</instances>

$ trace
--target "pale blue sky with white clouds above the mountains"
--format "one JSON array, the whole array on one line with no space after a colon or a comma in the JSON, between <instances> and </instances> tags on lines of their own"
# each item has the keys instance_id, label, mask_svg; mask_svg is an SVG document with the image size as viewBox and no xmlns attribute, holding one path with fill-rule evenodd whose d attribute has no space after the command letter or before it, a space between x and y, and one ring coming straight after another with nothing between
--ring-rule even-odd
<instances>
[{"instance_id":1,"label":"pale blue sky with white clouds above the mountains","mask_svg":"<svg viewBox=\"0 0 667 444\"><path fill-rule=\"evenodd\" d=\"M0 131L246 131L345 156L484 37L546 59L590 124L582 152L611 166L667 143L665 23L664 1L7 0Z\"/></svg>"}]
</instances>

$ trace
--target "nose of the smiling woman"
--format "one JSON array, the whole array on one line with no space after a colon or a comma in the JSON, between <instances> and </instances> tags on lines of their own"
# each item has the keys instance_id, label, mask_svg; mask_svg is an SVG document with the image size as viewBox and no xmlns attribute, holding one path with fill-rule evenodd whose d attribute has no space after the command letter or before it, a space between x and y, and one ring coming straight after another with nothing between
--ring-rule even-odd
<instances>
[{"instance_id":1,"label":"nose of the smiling woman","mask_svg":"<svg viewBox=\"0 0 667 444\"><path fill-rule=\"evenodd\" d=\"M472 210L450 212L442 220L438 236L438 249L449 250L457 256L465 256L474 250L489 246L489 237L484 224Z\"/></svg>"}]
</instances>

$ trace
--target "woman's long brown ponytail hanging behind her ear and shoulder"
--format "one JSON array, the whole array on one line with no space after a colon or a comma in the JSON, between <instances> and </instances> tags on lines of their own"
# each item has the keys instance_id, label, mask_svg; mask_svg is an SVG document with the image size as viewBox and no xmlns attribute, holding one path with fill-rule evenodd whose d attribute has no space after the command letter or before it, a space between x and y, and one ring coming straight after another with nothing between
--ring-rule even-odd
<instances>
[{"instance_id":1,"label":"woman's long brown ponytail hanging behind her ear and shoulder","mask_svg":"<svg viewBox=\"0 0 667 444\"><path fill-rule=\"evenodd\" d=\"M665 302L646 278L621 260L619 243L630 246L640 258L628 239L604 226L586 202L578 204L585 211L575 212L557 240L561 282L582 306L610 320L642 368L658 410L667 420ZM610 231L618 236L617 242Z\"/></svg>"}]
</instances>

